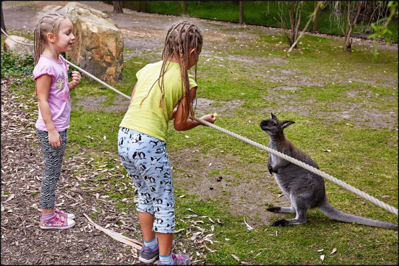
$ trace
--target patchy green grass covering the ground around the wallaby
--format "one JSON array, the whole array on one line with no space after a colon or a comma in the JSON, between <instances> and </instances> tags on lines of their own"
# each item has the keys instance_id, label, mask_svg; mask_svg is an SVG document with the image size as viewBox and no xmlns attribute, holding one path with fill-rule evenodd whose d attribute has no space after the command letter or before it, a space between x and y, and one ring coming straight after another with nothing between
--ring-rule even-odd
<instances>
[{"instance_id":1,"label":"patchy green grass covering the ground around the wallaby","mask_svg":"<svg viewBox=\"0 0 399 266\"><path fill-rule=\"evenodd\" d=\"M215 125L267 144L269 138L259 129L259 123L269 118L270 112L281 120L295 121L296 124L285 130L286 135L311 156L322 171L378 199L390 195L392 199L385 202L398 208L397 51L381 49L376 61L372 47L354 44L354 51L346 53L339 47L343 46L340 40L305 35L298 49L283 59L287 45L279 43L278 34L272 37L261 29L244 27L221 30L226 34L249 31L256 38L229 38L213 43L205 39L198 67L197 97L214 101L210 106L219 114ZM241 44L245 49L239 48ZM123 81L110 85L130 95L136 82L135 73L153 57L154 54L148 53L127 60ZM209 58L211 60L206 61ZM284 90L284 87L296 89ZM28 78L11 86L11 90L20 96L15 101L28 103L30 109L26 111L33 114L37 103L32 102L35 99L31 96L32 88ZM105 99L103 106L112 105L120 97L102 85L84 79L71 94L71 99L76 104L82 99L99 96ZM241 104L229 102L234 100ZM344 117L347 111L351 118ZM197 115L203 114L198 112ZM127 212L135 206L122 199L132 199L136 195L117 156L117 131L123 116L121 112L84 111L83 107L72 111L66 159L85 152L79 156L87 160L95 158L91 164L96 169L100 166L117 168L123 177L98 182L99 186L88 192L103 191L110 200L117 202L117 210ZM385 120L391 122L383 124ZM29 129L33 127L27 125ZM213 244L204 244L215 252L210 253L205 247L191 247L188 238L192 235L186 236L185 231L176 234L175 238L187 244L185 249L194 252L194 257L196 252L203 252L205 264L236 265L237 261L231 255L258 265L302 265L307 262L322 265L398 264L398 232L393 230L332 221L318 210L308 211L306 224L282 228L253 225L253 222L264 222L259 215L251 220L244 214L232 215L231 209L243 200L255 206L259 214L271 205L270 202L254 202L251 194L242 196L238 202L231 201L234 196L231 191L239 189L241 183L257 182L264 176L273 180L265 164L268 153L207 127L177 132L171 123L168 138L172 166L173 160L184 150L198 150L190 153L189 160L193 165L178 167L175 164L173 169L177 177L174 180L176 230L184 228L197 232L198 228L191 222L193 219L203 221L198 226L206 230L205 234L212 233L210 228L214 226ZM327 152L327 149L331 151ZM210 168L207 163L202 163L205 160L224 160L224 164L220 168ZM84 174L84 171L82 166L74 174ZM225 187L220 189L218 196L201 198L193 189L204 172L208 174L206 178L223 176ZM102 173L96 178L105 176L107 174ZM122 182L126 184L126 190ZM327 197L337 209L398 224L396 215L337 184L325 183ZM275 195L281 193L274 181L271 185L259 184L259 190ZM185 197L179 198L181 195ZM198 217L187 219L193 215L189 209ZM201 216L206 218L199 218ZM92 218L95 217L93 214ZM272 214L271 217L267 222L294 215ZM246 229L244 219L250 221L253 230ZM337 252L330 254L333 249ZM321 255L325 255L324 261L320 259Z\"/></svg>"}]
</instances>

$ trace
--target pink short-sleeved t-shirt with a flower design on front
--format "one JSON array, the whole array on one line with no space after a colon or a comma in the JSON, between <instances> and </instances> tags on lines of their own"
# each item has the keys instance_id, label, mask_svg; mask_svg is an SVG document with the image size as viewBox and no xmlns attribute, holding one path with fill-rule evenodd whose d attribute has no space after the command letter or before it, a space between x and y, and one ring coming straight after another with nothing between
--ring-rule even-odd
<instances>
[{"instance_id":1,"label":"pink short-sleeved t-shirt with a flower design on front","mask_svg":"<svg viewBox=\"0 0 399 266\"><path fill-rule=\"evenodd\" d=\"M60 62L56 62L46 56L40 55L39 62L33 69L33 80L41 75L52 77L48 105L56 131L69 129L69 117L71 115L71 99L69 97L68 70L69 65L60 55ZM36 129L47 131L39 107L39 118L36 121Z\"/></svg>"}]
</instances>

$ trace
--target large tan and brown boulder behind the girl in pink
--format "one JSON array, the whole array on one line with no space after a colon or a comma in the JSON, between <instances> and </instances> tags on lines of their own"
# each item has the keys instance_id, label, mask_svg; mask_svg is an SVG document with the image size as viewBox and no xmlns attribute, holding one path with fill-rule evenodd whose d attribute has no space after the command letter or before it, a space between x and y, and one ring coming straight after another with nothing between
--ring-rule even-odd
<instances>
[{"instance_id":1,"label":"large tan and brown boulder behind the girl in pink","mask_svg":"<svg viewBox=\"0 0 399 266\"><path fill-rule=\"evenodd\" d=\"M105 82L122 80L123 36L107 14L78 2L46 5L43 10L67 14L72 21L76 39L66 56L73 64Z\"/></svg>"}]
</instances>

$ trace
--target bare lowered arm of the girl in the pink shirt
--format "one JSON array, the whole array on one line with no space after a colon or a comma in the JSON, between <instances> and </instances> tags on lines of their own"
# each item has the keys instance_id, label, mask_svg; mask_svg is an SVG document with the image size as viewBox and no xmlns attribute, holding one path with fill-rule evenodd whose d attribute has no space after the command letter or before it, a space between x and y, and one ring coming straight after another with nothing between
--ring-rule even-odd
<instances>
[{"instance_id":1,"label":"bare lowered arm of the girl in the pink shirt","mask_svg":"<svg viewBox=\"0 0 399 266\"><path fill-rule=\"evenodd\" d=\"M37 100L39 101L41 117L48 131L48 142L51 146L58 148L61 146L62 140L55 129L50 106L48 105L51 81L52 78L49 75L41 75L36 79Z\"/></svg>"}]
</instances>

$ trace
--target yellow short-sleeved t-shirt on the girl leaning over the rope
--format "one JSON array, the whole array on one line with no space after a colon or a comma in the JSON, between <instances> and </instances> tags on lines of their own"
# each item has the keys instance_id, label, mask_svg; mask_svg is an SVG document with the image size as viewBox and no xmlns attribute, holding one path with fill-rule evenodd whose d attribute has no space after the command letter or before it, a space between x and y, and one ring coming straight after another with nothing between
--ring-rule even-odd
<instances>
[{"instance_id":1,"label":"yellow short-sleeved t-shirt on the girl leaning over the rope","mask_svg":"<svg viewBox=\"0 0 399 266\"><path fill-rule=\"evenodd\" d=\"M163 61L148 64L140 69L137 74L136 92L125 117L119 127L132 129L150 136L167 141L169 120L172 118L173 110L184 97L182 94L182 78L178 63L167 62L169 67L164 74L164 111L160 106L161 89L158 79ZM190 88L197 86L195 79L189 74ZM150 92L149 92L150 91ZM183 90L184 91L184 90ZM140 106L141 101L148 95Z\"/></svg>"}]
</instances>

